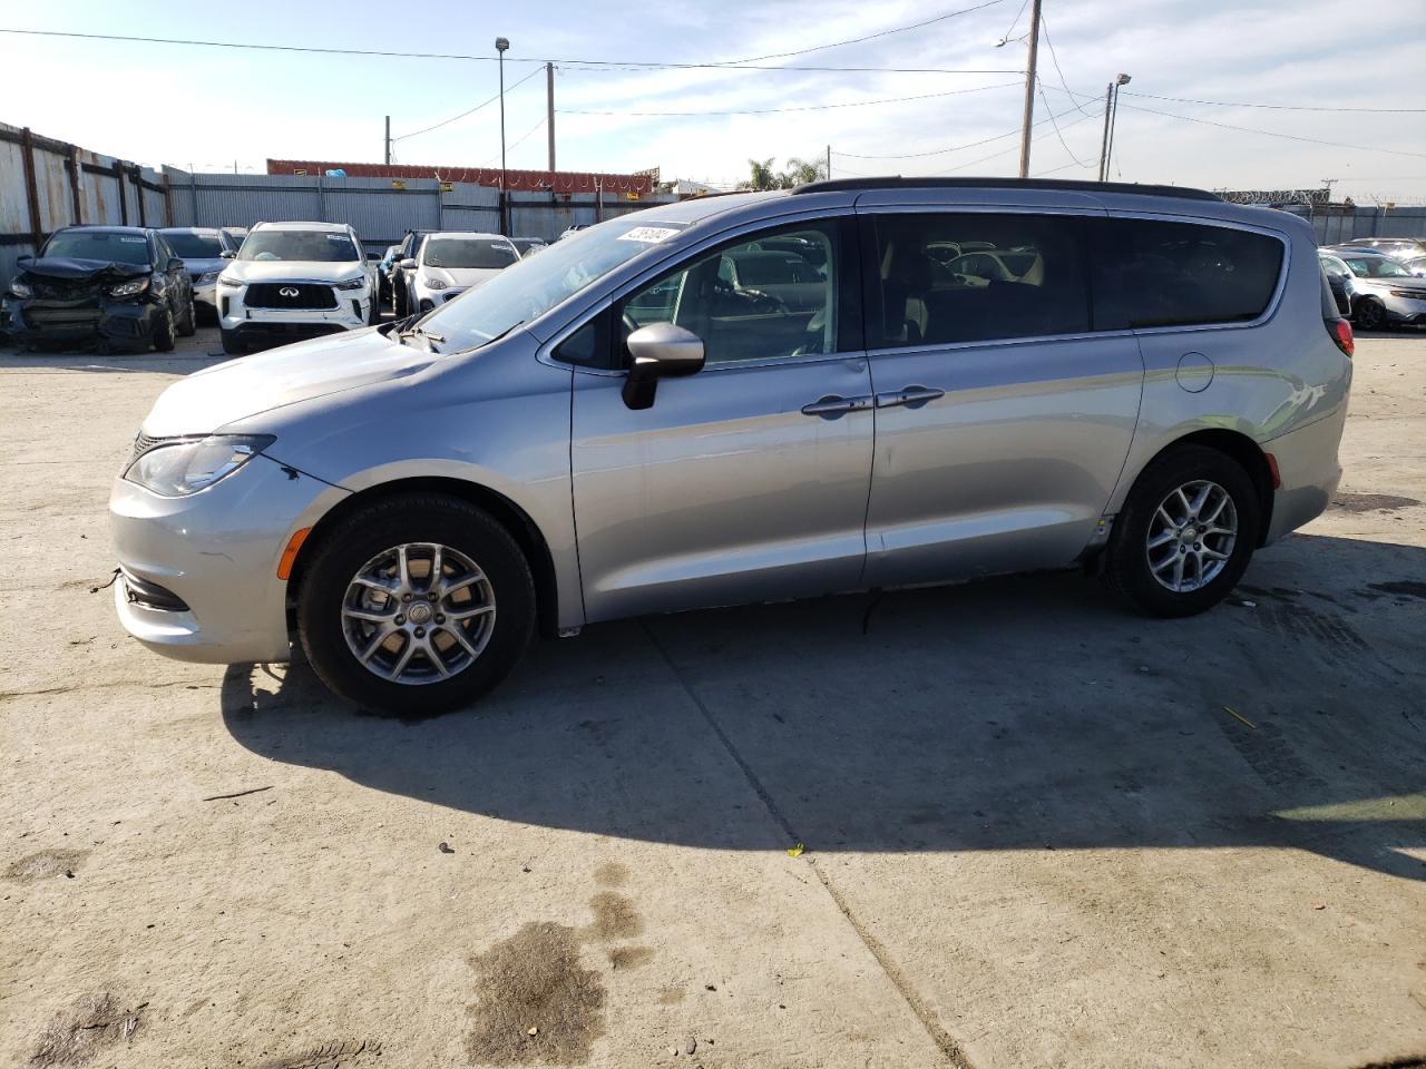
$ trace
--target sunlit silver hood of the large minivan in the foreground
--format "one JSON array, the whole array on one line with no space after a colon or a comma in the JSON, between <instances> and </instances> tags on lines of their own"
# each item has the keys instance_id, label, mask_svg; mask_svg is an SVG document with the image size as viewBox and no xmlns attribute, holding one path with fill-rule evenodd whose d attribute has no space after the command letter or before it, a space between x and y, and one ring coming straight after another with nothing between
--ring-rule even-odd
<instances>
[{"instance_id":1,"label":"sunlit silver hood of the large minivan in the foreground","mask_svg":"<svg viewBox=\"0 0 1426 1069\"><path fill-rule=\"evenodd\" d=\"M314 338L180 379L158 396L143 430L150 438L205 435L282 405L415 375L436 359L376 329Z\"/></svg>"}]
</instances>

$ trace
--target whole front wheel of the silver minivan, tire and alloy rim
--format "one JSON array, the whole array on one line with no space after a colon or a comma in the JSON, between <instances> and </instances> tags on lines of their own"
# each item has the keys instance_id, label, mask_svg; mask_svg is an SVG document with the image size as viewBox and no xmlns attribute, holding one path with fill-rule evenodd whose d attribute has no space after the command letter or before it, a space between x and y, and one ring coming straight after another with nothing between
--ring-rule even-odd
<instances>
[{"instance_id":1,"label":"whole front wheel of the silver minivan, tire and alloy rim","mask_svg":"<svg viewBox=\"0 0 1426 1069\"><path fill-rule=\"evenodd\" d=\"M529 644L529 563L468 502L379 500L312 550L298 592L302 649L322 681L356 706L448 711L492 690Z\"/></svg>"}]
</instances>

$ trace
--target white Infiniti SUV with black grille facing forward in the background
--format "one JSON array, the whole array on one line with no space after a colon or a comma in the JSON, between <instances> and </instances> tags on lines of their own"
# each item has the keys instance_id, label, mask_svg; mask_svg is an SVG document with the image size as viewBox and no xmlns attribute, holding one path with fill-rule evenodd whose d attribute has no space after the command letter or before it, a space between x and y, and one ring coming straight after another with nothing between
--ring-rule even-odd
<instances>
[{"instance_id":1,"label":"white Infiniti SUV with black grille facing forward in the background","mask_svg":"<svg viewBox=\"0 0 1426 1069\"><path fill-rule=\"evenodd\" d=\"M218 275L217 298L228 353L355 331L378 316L372 271L344 222L257 224Z\"/></svg>"}]
</instances>

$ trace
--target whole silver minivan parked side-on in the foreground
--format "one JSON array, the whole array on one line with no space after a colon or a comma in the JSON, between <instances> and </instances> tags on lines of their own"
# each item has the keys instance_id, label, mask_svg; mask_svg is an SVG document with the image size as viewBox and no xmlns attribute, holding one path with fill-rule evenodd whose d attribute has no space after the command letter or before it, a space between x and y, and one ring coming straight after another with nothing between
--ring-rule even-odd
<instances>
[{"instance_id":1,"label":"whole silver minivan parked side-on in the foreground","mask_svg":"<svg viewBox=\"0 0 1426 1069\"><path fill-rule=\"evenodd\" d=\"M1078 566L1185 616L1326 506L1350 353L1309 225L1194 190L660 205L170 386L114 482L116 604L412 714L640 613Z\"/></svg>"}]
</instances>

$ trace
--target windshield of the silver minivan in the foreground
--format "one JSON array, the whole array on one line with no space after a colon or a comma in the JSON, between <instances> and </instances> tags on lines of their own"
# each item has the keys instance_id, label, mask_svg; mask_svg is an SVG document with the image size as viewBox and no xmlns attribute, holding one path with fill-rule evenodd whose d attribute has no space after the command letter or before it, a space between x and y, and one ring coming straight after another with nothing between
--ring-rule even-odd
<instances>
[{"instance_id":1,"label":"windshield of the silver minivan in the foreground","mask_svg":"<svg viewBox=\"0 0 1426 1069\"><path fill-rule=\"evenodd\" d=\"M683 225L625 217L590 227L441 305L421 326L445 335L449 351L482 345L543 315L620 264L667 241Z\"/></svg>"}]
</instances>

